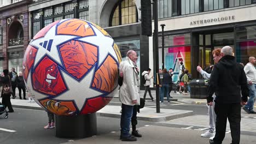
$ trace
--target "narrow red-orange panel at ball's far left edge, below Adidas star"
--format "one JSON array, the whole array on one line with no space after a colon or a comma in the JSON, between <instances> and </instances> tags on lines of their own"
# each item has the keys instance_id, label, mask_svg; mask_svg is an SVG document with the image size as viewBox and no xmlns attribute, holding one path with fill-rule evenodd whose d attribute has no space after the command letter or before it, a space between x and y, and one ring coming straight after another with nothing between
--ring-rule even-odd
<instances>
[{"instance_id":1,"label":"narrow red-orange panel at ball's far left edge, below Adidas star","mask_svg":"<svg viewBox=\"0 0 256 144\"><path fill-rule=\"evenodd\" d=\"M27 81L28 73L30 72L30 69L32 65L34 64L34 58L36 57L37 49L34 48L31 45L27 46L27 50L24 54L24 59L22 62L23 67L23 77Z\"/></svg>"}]
</instances>

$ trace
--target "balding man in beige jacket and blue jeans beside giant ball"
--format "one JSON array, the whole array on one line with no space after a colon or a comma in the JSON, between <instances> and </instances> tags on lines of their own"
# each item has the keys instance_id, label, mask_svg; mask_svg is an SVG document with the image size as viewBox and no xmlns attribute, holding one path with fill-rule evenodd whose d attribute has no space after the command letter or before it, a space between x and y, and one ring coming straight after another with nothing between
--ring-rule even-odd
<instances>
[{"instance_id":1,"label":"balding man in beige jacket and blue jeans beside giant ball","mask_svg":"<svg viewBox=\"0 0 256 144\"><path fill-rule=\"evenodd\" d=\"M137 54L135 51L128 51L126 60L120 63L120 72L123 72L123 85L120 87L119 100L122 103L121 114L121 140L137 141L136 137L130 135L130 123L133 106L139 105L139 77L136 66Z\"/></svg>"}]
</instances>

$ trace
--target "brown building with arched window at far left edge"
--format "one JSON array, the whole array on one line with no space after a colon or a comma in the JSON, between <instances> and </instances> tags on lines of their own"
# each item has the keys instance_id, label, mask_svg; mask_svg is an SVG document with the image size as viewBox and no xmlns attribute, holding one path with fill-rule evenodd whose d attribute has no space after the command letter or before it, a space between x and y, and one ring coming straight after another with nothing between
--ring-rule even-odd
<instances>
[{"instance_id":1,"label":"brown building with arched window at far left edge","mask_svg":"<svg viewBox=\"0 0 256 144\"><path fill-rule=\"evenodd\" d=\"M0 1L0 71L22 71L22 59L28 45L28 4L32 1Z\"/></svg>"}]
</instances>

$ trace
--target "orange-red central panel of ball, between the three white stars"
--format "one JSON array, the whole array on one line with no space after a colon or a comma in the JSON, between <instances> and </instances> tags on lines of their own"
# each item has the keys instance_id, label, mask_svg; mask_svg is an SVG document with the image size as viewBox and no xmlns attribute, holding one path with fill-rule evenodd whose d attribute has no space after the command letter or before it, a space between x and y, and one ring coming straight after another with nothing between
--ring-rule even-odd
<instances>
[{"instance_id":1,"label":"orange-red central panel of ball, between the three white stars","mask_svg":"<svg viewBox=\"0 0 256 144\"><path fill-rule=\"evenodd\" d=\"M80 79L97 62L97 47L71 40L60 46L62 61L69 74Z\"/></svg>"}]
</instances>

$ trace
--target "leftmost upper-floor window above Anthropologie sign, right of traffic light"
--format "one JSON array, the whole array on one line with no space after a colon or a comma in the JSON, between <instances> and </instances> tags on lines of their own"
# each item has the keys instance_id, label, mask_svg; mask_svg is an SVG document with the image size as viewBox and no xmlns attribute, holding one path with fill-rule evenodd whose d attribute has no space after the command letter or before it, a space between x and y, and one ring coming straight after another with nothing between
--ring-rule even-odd
<instances>
[{"instance_id":1,"label":"leftmost upper-floor window above Anthropologie sign, right of traffic light","mask_svg":"<svg viewBox=\"0 0 256 144\"><path fill-rule=\"evenodd\" d=\"M158 19L172 16L172 0L158 0Z\"/></svg>"}]
</instances>

